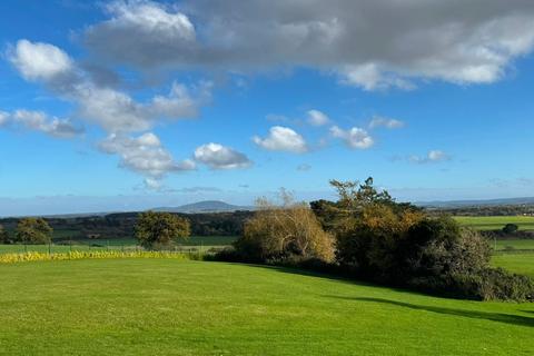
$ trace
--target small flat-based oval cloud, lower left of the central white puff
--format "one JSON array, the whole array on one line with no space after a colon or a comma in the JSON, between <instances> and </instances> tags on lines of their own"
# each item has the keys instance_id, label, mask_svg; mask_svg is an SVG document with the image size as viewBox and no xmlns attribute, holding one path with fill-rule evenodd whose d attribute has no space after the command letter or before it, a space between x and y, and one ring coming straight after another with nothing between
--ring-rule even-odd
<instances>
[{"instance_id":1,"label":"small flat-based oval cloud, lower left of the central white puff","mask_svg":"<svg viewBox=\"0 0 534 356\"><path fill-rule=\"evenodd\" d=\"M219 144L206 144L195 150L195 160L211 169L246 168L251 161L241 152Z\"/></svg>"}]
</instances>

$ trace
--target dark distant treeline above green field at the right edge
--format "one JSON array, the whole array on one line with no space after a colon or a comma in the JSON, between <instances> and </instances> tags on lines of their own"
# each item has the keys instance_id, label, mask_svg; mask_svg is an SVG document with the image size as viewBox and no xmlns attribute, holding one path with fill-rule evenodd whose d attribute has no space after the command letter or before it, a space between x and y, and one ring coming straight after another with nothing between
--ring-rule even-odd
<instances>
[{"instance_id":1,"label":"dark distant treeline above green field at the right edge","mask_svg":"<svg viewBox=\"0 0 534 356\"><path fill-rule=\"evenodd\" d=\"M454 216L534 216L534 205L474 206L461 208L427 208L429 214Z\"/></svg>"}]
</instances>

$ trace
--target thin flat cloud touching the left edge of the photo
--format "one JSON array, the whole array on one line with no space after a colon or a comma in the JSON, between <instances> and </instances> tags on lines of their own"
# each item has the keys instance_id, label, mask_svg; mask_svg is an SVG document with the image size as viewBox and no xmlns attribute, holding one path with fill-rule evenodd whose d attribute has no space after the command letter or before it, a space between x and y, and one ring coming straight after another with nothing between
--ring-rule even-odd
<instances>
[{"instance_id":1,"label":"thin flat cloud touching the left edge of the photo","mask_svg":"<svg viewBox=\"0 0 534 356\"><path fill-rule=\"evenodd\" d=\"M0 111L0 126L7 125L57 138L72 138L85 132L83 127L75 125L70 119L59 119L42 111L16 110L11 113Z\"/></svg>"}]
</instances>

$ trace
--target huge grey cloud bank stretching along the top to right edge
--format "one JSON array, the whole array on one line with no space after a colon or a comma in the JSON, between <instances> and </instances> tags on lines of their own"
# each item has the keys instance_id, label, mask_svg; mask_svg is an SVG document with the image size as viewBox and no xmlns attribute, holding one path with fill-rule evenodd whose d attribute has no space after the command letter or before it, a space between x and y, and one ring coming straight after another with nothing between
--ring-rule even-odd
<instances>
[{"instance_id":1,"label":"huge grey cloud bank stretching along the top to right edge","mask_svg":"<svg viewBox=\"0 0 534 356\"><path fill-rule=\"evenodd\" d=\"M306 66L364 90L493 82L534 47L534 2L524 0L131 0L106 9L109 19L88 28L85 43L112 62Z\"/></svg>"}]
</instances>

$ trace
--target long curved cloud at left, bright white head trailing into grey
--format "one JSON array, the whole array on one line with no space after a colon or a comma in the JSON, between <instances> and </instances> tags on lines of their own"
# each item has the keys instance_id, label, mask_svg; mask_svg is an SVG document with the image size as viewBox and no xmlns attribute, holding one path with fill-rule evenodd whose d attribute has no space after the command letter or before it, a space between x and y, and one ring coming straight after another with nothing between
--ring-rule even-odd
<instances>
[{"instance_id":1,"label":"long curved cloud at left, bright white head trailing into grey","mask_svg":"<svg viewBox=\"0 0 534 356\"><path fill-rule=\"evenodd\" d=\"M196 117L211 88L211 83L202 82L194 97L187 87L174 82L168 95L138 102L126 92L92 80L95 76L52 44L20 40L10 50L10 60L22 77L42 81L61 98L75 102L81 118L110 134L139 132L161 119Z\"/></svg>"}]
</instances>

